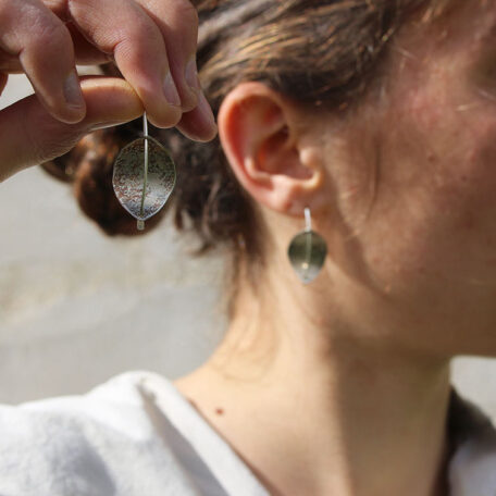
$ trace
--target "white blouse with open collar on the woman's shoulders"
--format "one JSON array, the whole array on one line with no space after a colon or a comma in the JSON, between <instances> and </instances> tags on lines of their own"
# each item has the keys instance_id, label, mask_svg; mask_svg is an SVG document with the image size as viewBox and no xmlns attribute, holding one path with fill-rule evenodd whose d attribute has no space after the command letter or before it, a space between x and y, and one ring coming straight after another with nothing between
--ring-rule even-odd
<instances>
[{"instance_id":1,"label":"white blouse with open collar on the woman's shoulders","mask_svg":"<svg viewBox=\"0 0 496 496\"><path fill-rule=\"evenodd\" d=\"M450 496L496 495L496 430L452 392ZM0 496L269 496L165 377L0 405Z\"/></svg>"}]
</instances>

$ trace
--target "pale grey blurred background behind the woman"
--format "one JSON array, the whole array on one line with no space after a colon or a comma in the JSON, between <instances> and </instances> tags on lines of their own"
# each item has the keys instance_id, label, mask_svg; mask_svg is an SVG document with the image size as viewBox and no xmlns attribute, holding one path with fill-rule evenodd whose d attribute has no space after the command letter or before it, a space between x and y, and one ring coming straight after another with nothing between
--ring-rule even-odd
<instances>
[{"instance_id":1,"label":"pale grey blurred background behind the woman","mask_svg":"<svg viewBox=\"0 0 496 496\"><path fill-rule=\"evenodd\" d=\"M0 108L32 92L11 76ZM30 168L0 184L0 402L84 393L128 370L174 379L222 338L222 255L190 257L168 219L109 238L71 186ZM496 419L496 360L460 357L452 371Z\"/></svg>"}]
</instances>

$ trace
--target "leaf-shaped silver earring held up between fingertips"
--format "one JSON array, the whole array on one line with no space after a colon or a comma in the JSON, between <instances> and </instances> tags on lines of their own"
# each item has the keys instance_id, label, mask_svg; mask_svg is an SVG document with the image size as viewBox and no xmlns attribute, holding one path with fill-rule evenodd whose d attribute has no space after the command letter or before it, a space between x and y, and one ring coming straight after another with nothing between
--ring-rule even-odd
<instances>
[{"instance_id":1,"label":"leaf-shaped silver earring held up between fingertips","mask_svg":"<svg viewBox=\"0 0 496 496\"><path fill-rule=\"evenodd\" d=\"M112 185L121 204L137 220L145 221L165 204L174 189L174 161L165 148L148 135L147 114L142 116L142 138L124 147L114 162Z\"/></svg>"}]
</instances>

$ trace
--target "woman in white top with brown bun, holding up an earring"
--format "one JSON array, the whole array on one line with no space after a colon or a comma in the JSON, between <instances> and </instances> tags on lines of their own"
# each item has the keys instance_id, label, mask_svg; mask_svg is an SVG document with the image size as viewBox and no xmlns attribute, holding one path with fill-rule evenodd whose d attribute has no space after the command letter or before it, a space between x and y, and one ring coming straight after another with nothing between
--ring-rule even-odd
<instances>
[{"instance_id":1,"label":"woman in white top with brown bun, holding up an earring","mask_svg":"<svg viewBox=\"0 0 496 496\"><path fill-rule=\"evenodd\" d=\"M50 7L69 22L83 60L113 53L125 80L85 80L85 103L67 107L63 86L32 70L39 53L21 50L42 104L2 113L3 177L142 107L158 127L212 139L206 99L183 76L186 4L28 3L33 18L57 23ZM12 47L23 17L0 5ZM230 248L227 334L174 382L131 372L85 396L3 407L0 494L493 495L496 433L452 390L449 363L496 355L496 1L196 7L219 140L169 145L178 226ZM160 89L165 51L177 95L170 78ZM109 234L134 225L109 187L133 135L99 132L47 165ZM286 255L305 211L327 246L307 285Z\"/></svg>"}]
</instances>

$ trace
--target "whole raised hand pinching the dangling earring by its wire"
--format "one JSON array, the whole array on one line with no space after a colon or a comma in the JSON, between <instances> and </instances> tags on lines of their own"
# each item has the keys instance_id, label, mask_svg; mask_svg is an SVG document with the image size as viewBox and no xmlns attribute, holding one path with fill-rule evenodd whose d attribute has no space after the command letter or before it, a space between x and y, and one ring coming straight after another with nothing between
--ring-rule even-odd
<instances>
[{"instance_id":1,"label":"whole raised hand pinching the dangling earring by its wire","mask_svg":"<svg viewBox=\"0 0 496 496\"><path fill-rule=\"evenodd\" d=\"M0 181L69 151L96 128L138 117L191 139L216 134L196 74L187 0L0 0L0 95L24 72L36 96L0 112ZM124 79L75 64L114 60Z\"/></svg>"}]
</instances>

